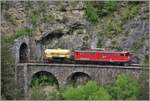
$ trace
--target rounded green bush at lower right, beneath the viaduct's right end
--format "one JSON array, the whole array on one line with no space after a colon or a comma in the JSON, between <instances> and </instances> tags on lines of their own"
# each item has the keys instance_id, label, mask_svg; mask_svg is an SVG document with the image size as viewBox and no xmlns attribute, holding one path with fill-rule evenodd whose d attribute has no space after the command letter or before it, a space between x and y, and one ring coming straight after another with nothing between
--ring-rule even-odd
<instances>
[{"instance_id":1,"label":"rounded green bush at lower right, beneath the viaduct's right end","mask_svg":"<svg viewBox=\"0 0 150 101\"><path fill-rule=\"evenodd\" d=\"M136 100L140 93L138 82L124 74L117 77L108 91L115 100Z\"/></svg>"}]
</instances>

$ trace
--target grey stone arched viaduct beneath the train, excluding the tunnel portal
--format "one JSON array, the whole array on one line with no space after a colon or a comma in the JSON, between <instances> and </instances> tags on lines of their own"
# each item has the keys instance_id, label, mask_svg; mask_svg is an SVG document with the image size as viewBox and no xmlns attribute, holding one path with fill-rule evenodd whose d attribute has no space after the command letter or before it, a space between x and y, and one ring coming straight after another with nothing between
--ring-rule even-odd
<instances>
[{"instance_id":1,"label":"grey stone arched viaduct beneath the train, excluding the tunnel portal","mask_svg":"<svg viewBox=\"0 0 150 101\"><path fill-rule=\"evenodd\" d=\"M110 83L120 73L139 79L141 67L135 66L103 66L83 64L45 64L45 63L18 63L16 66L16 80L19 87L27 92L32 77L39 72L48 72L58 81L59 87L64 86L74 77L82 75L100 84ZM146 69L144 69L146 70ZM146 70L148 72L148 70Z\"/></svg>"}]
</instances>

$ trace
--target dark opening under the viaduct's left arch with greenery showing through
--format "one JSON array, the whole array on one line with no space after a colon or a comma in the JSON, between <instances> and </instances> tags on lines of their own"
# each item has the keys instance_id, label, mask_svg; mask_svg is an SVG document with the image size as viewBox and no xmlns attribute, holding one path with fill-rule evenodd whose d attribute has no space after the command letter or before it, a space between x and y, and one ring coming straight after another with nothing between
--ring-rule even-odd
<instances>
[{"instance_id":1,"label":"dark opening under the viaduct's left arch with greenery showing through","mask_svg":"<svg viewBox=\"0 0 150 101\"><path fill-rule=\"evenodd\" d=\"M40 80L38 80L38 79L40 79ZM38 80L38 82L36 80ZM34 86L35 83L45 83L45 84L47 83L50 85L56 85L56 87L59 88L59 83L58 83L58 80L55 77L55 75L53 75L52 73L47 72L47 71L39 71L39 72L33 74L29 87Z\"/></svg>"}]
</instances>

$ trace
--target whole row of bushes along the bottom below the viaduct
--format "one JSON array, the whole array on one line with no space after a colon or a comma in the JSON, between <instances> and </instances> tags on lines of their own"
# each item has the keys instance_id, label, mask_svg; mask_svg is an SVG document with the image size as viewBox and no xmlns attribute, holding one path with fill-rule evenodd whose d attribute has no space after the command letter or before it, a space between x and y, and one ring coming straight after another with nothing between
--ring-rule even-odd
<instances>
[{"instance_id":1,"label":"whole row of bushes along the bottom below the viaduct","mask_svg":"<svg viewBox=\"0 0 150 101\"><path fill-rule=\"evenodd\" d=\"M43 80L44 81L44 80ZM48 85L47 85L48 86ZM45 85L32 86L32 93L27 99L41 100L137 100L140 95L140 86L136 80L125 74L118 75L109 85L98 85L95 81L89 81L85 85L77 87L68 86L64 89L44 91Z\"/></svg>"}]
</instances>

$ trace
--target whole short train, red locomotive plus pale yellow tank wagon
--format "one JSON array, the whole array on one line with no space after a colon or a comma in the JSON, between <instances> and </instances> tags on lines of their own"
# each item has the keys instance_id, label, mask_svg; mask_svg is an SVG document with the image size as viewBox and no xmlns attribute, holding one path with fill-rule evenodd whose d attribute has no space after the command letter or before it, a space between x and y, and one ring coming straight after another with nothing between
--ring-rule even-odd
<instances>
[{"instance_id":1,"label":"whole short train, red locomotive plus pale yellow tank wagon","mask_svg":"<svg viewBox=\"0 0 150 101\"><path fill-rule=\"evenodd\" d=\"M46 49L44 52L45 60L72 60L77 63L104 63L104 64L131 64L132 55L128 51L112 52L105 50L74 50L68 49Z\"/></svg>"}]
</instances>

